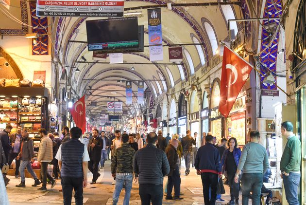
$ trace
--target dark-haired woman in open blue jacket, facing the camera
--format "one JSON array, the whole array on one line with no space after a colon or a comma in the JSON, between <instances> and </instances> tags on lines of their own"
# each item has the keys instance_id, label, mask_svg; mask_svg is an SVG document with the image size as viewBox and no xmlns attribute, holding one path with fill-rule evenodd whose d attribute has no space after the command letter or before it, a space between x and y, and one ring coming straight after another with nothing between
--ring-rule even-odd
<instances>
[{"instance_id":1,"label":"dark-haired woman in open blue jacket, facing the camera","mask_svg":"<svg viewBox=\"0 0 306 205\"><path fill-rule=\"evenodd\" d=\"M227 205L239 204L239 181L235 183L235 174L241 156L241 150L237 148L238 143L235 137L229 138L226 149L221 158L221 166L223 166L223 173L227 174L228 183L230 186L231 201ZM241 175L240 175L241 176Z\"/></svg>"}]
</instances>

